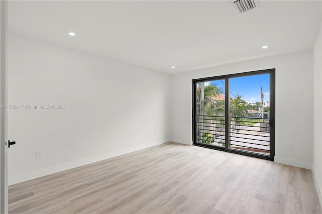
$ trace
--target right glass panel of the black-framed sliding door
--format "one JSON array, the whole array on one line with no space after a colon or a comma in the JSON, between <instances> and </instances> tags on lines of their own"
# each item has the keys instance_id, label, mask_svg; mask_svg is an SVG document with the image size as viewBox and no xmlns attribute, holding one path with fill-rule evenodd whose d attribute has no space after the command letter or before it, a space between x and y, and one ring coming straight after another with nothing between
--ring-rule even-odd
<instances>
[{"instance_id":1,"label":"right glass panel of the black-framed sliding door","mask_svg":"<svg viewBox=\"0 0 322 214\"><path fill-rule=\"evenodd\" d=\"M229 149L270 156L270 74L229 78Z\"/></svg>"}]
</instances>

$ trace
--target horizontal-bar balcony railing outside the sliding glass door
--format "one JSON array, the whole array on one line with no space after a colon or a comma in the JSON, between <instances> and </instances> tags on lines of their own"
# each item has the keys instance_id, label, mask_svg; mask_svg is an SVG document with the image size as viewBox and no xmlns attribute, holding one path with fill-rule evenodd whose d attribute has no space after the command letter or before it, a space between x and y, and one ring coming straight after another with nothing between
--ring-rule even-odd
<instances>
[{"instance_id":1,"label":"horizontal-bar balcony railing outside the sliding glass door","mask_svg":"<svg viewBox=\"0 0 322 214\"><path fill-rule=\"evenodd\" d=\"M225 120L221 116L198 115L197 143L225 146ZM229 148L269 155L269 118L230 117Z\"/></svg>"}]
</instances>

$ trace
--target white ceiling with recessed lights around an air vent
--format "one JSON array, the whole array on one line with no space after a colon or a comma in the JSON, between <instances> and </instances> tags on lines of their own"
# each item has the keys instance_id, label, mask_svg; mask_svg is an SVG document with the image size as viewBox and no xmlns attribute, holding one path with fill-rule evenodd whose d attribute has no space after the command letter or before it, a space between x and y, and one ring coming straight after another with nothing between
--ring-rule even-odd
<instances>
[{"instance_id":1,"label":"white ceiling with recessed lights around an air vent","mask_svg":"<svg viewBox=\"0 0 322 214\"><path fill-rule=\"evenodd\" d=\"M230 1L11 1L9 31L167 73L312 48L320 1L259 4L239 14Z\"/></svg>"}]
</instances>

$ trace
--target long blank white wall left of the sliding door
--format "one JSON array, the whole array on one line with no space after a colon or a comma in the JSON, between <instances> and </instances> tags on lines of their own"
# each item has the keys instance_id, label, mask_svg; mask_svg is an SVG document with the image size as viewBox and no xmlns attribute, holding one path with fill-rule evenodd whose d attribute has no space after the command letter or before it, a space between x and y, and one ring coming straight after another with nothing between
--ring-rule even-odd
<instances>
[{"instance_id":1,"label":"long blank white wall left of the sliding door","mask_svg":"<svg viewBox=\"0 0 322 214\"><path fill-rule=\"evenodd\" d=\"M9 37L9 104L65 106L9 111L10 184L170 140L170 75Z\"/></svg>"}]
</instances>

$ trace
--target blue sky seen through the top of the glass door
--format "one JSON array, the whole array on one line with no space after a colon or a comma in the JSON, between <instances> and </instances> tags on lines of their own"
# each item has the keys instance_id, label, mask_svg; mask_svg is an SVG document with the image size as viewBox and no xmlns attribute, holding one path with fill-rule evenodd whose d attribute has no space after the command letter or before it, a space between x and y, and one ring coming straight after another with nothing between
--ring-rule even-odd
<instances>
[{"instance_id":1,"label":"blue sky seen through the top of the glass door","mask_svg":"<svg viewBox=\"0 0 322 214\"><path fill-rule=\"evenodd\" d=\"M211 81L224 91L224 79ZM252 76L243 76L230 78L230 92L234 95L242 95L242 98L248 102L261 101L261 86L263 85L264 102L270 100L270 74L260 74ZM230 97L233 95L230 93Z\"/></svg>"}]
</instances>

